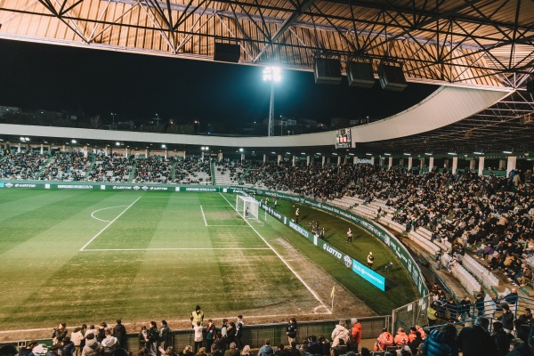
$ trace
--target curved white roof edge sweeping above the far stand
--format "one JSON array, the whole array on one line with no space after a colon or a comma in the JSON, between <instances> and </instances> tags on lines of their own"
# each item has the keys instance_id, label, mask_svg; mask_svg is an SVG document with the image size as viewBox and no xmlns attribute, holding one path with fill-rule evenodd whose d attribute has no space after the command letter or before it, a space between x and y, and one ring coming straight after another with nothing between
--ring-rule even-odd
<instances>
[{"instance_id":1,"label":"curved white roof edge sweeping above the far stand","mask_svg":"<svg viewBox=\"0 0 534 356\"><path fill-rule=\"evenodd\" d=\"M352 127L352 142L375 142L422 134L470 117L512 92L441 86L424 101L392 117ZM301 147L334 145L336 131L275 137L222 137L153 134L35 125L0 125L0 134L57 137L77 140L156 142L221 147Z\"/></svg>"}]
</instances>

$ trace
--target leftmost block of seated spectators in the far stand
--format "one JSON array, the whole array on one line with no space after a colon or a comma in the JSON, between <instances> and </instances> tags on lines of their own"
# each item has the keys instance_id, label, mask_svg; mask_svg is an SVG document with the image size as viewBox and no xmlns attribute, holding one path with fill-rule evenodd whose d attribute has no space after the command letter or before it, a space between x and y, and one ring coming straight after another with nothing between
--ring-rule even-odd
<instances>
[{"instance_id":1,"label":"leftmost block of seated spectators in the far stand","mask_svg":"<svg viewBox=\"0 0 534 356\"><path fill-rule=\"evenodd\" d=\"M37 179L48 157L47 153L33 151L7 154L0 160L0 178Z\"/></svg>"}]
</instances>

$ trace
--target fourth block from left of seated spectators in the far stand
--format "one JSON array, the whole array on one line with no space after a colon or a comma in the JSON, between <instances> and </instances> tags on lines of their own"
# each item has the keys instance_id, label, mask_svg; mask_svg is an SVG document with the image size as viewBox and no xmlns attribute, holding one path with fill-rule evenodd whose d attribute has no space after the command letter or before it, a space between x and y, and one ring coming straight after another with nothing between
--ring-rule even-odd
<instances>
[{"instance_id":1,"label":"fourth block from left of seated spectators in the far stand","mask_svg":"<svg viewBox=\"0 0 534 356\"><path fill-rule=\"evenodd\" d=\"M166 183L172 181L173 165L177 158L137 158L135 159L134 183Z\"/></svg>"}]
</instances>

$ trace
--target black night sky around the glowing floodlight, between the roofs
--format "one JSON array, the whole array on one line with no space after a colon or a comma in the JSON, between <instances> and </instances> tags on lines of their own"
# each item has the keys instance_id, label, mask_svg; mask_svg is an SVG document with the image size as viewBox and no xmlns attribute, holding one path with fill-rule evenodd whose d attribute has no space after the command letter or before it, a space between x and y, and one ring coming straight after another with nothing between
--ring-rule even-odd
<instances>
[{"instance_id":1,"label":"black night sky around the glowing floodlight, between the roofs","mask_svg":"<svg viewBox=\"0 0 534 356\"><path fill-rule=\"evenodd\" d=\"M252 123L268 116L263 68L0 40L0 105L83 110L122 120L154 117ZM275 115L329 124L331 117L386 117L435 90L410 84L402 93L316 85L312 72L283 70Z\"/></svg>"}]
</instances>

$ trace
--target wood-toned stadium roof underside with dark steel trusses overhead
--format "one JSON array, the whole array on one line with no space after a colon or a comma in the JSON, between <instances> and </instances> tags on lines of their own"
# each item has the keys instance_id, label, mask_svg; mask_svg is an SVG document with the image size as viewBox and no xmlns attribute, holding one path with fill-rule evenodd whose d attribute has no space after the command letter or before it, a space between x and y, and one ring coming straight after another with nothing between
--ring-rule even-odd
<instances>
[{"instance_id":1,"label":"wood-toned stadium roof underside with dark steel trusses overhead","mask_svg":"<svg viewBox=\"0 0 534 356\"><path fill-rule=\"evenodd\" d=\"M215 42L252 65L395 61L441 85L516 88L534 63L521 0L1 0L0 24L3 38L204 61Z\"/></svg>"}]
</instances>

